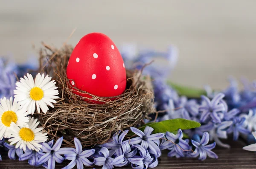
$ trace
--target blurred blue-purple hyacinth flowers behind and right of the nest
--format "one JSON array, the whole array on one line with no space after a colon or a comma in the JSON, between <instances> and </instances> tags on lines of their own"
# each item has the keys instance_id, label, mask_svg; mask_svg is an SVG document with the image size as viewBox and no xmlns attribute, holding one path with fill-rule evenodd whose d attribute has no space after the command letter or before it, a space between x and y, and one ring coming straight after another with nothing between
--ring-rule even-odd
<instances>
[{"instance_id":1,"label":"blurred blue-purple hyacinth flowers behind and right of the nest","mask_svg":"<svg viewBox=\"0 0 256 169\"><path fill-rule=\"evenodd\" d=\"M159 113L157 121L173 118L185 118L201 123L201 127L184 131L190 138L203 136L204 132L209 133L210 141L215 141L218 146L230 148L228 144L221 142L233 135L236 141L241 135L248 138L248 141L255 141L251 132L256 131L256 82L250 83L246 79L241 82L243 90L239 90L238 82L229 78L230 86L223 91L212 91L209 86L205 87L207 96L201 99L188 99L186 96L179 96L177 92L167 84L166 72L173 70L177 60L177 52L169 50L165 54L154 51L149 52L128 52L129 46L121 51L126 62L133 62L133 65L145 65L153 58L162 56L169 64L169 68L158 67L157 74L151 66L145 68L144 73L152 77L155 95L155 107ZM172 49L172 48L171 48ZM130 57L128 57L130 56ZM135 59L134 59L135 58ZM137 63L138 62L138 63ZM154 64L154 63L153 63ZM140 69L140 67L136 67ZM154 118L154 115L151 116Z\"/></svg>"}]
</instances>

